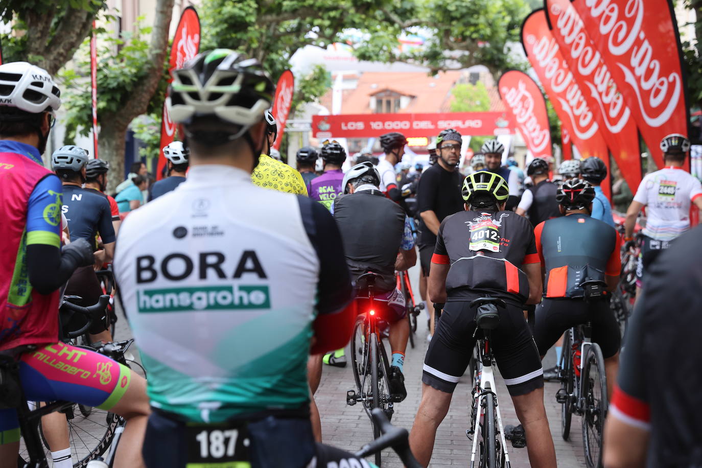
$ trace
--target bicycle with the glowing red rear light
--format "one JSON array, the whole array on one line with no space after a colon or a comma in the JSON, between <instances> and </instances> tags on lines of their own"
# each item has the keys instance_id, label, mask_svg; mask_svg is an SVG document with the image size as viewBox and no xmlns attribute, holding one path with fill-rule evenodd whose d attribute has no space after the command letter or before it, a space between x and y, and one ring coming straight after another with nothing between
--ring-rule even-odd
<instances>
[{"instance_id":1,"label":"bicycle with the glowing red rear light","mask_svg":"<svg viewBox=\"0 0 702 468\"><path fill-rule=\"evenodd\" d=\"M390 396L390 363L388 354L385 352L380 321L380 310L375 302L375 281L382 278L379 274L368 272L362 274L357 279L357 284L366 283L368 291L369 309L367 312L359 314L354 324L351 338L351 363L356 381L356 389L346 392L346 404L353 406L356 403L363 403L366 414L371 419L373 426L373 438L380 437L380 424L377 424L371 415L375 408L383 410L383 413L392 419L393 401ZM376 453L376 464L380 466L381 455Z\"/></svg>"}]
</instances>

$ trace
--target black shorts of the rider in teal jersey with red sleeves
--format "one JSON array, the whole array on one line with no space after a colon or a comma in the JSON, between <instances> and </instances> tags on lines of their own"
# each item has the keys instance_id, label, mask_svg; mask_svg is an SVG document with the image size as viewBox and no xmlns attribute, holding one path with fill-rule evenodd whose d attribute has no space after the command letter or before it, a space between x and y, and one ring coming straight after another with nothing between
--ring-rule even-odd
<instances>
[{"instance_id":1,"label":"black shorts of the rider in teal jersey with red sleeves","mask_svg":"<svg viewBox=\"0 0 702 468\"><path fill-rule=\"evenodd\" d=\"M619 351L621 334L609 300L585 302L582 299L546 299L536 307L534 340L541 356L571 327L592 321L592 341L600 345L602 356L609 358Z\"/></svg>"}]
</instances>

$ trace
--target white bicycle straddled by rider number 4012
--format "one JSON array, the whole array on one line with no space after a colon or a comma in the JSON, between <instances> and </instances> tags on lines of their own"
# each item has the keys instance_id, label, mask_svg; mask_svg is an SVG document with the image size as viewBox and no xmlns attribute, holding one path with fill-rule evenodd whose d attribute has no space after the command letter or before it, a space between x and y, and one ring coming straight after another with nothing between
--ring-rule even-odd
<instances>
[{"instance_id":1,"label":"white bicycle straddled by rider number 4012","mask_svg":"<svg viewBox=\"0 0 702 468\"><path fill-rule=\"evenodd\" d=\"M498 406L494 368L495 358L492 354L490 333L500 323L498 307L506 307L505 302L497 297L478 297L470 302L470 307L477 307L475 314L475 333L478 340L475 345L475 367L472 367L471 381L471 424L465 432L472 439L470 467L510 467L507 453L505 430ZM477 460L476 460L477 457Z\"/></svg>"}]
</instances>

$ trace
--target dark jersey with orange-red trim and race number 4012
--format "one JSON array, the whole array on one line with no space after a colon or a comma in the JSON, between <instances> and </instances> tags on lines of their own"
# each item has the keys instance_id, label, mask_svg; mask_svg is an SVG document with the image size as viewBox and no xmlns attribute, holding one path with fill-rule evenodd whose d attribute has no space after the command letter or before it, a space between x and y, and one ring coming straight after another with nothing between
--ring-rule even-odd
<instances>
[{"instance_id":1,"label":"dark jersey with orange-red trim and race number 4012","mask_svg":"<svg viewBox=\"0 0 702 468\"><path fill-rule=\"evenodd\" d=\"M451 265L447 301L476 293L495 295L514 305L529 297L522 265L538 263L534 230L512 211L461 211L444 219L432 262Z\"/></svg>"}]
</instances>

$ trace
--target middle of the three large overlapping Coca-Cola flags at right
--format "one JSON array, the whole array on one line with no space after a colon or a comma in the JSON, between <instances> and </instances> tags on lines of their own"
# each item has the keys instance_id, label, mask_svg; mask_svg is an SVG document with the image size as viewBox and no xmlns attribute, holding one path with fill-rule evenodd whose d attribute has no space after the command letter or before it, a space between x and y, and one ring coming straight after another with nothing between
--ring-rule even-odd
<instances>
[{"instance_id":1,"label":"middle of the three large overlapping Coca-Cola flags at right","mask_svg":"<svg viewBox=\"0 0 702 468\"><path fill-rule=\"evenodd\" d=\"M600 133L632 190L641 182L639 133L602 55L590 41L570 0L545 0L548 24L590 109Z\"/></svg>"}]
</instances>

